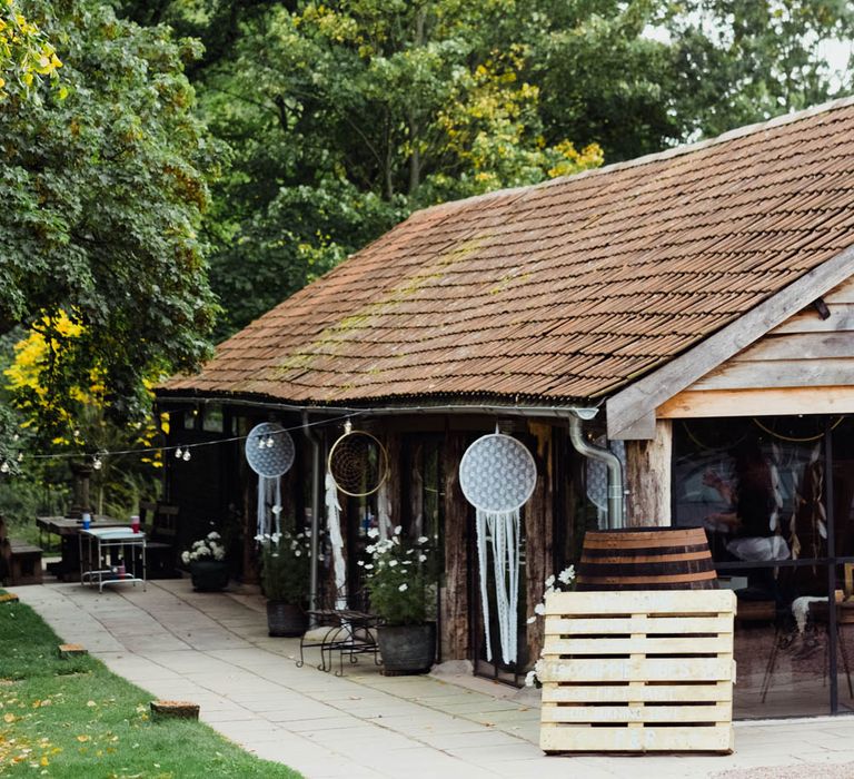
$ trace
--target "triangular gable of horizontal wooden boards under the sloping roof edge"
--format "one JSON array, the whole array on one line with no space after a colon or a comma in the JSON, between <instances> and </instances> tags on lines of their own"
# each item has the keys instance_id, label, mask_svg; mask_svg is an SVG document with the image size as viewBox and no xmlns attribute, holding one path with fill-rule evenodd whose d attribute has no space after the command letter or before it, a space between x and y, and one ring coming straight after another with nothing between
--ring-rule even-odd
<instances>
[{"instance_id":1,"label":"triangular gable of horizontal wooden boards under the sloping roof edge","mask_svg":"<svg viewBox=\"0 0 854 779\"><path fill-rule=\"evenodd\" d=\"M658 418L854 413L854 277L656 408Z\"/></svg>"}]
</instances>

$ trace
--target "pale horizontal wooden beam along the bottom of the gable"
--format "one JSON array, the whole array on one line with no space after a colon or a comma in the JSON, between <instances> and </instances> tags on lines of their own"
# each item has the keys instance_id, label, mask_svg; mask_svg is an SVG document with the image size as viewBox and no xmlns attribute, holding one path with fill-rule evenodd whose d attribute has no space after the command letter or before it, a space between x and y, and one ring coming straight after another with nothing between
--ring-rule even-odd
<instances>
[{"instance_id":1,"label":"pale horizontal wooden beam along the bottom of the gable","mask_svg":"<svg viewBox=\"0 0 854 779\"><path fill-rule=\"evenodd\" d=\"M656 410L662 420L777 414L854 414L854 386L686 391Z\"/></svg>"}]
</instances>

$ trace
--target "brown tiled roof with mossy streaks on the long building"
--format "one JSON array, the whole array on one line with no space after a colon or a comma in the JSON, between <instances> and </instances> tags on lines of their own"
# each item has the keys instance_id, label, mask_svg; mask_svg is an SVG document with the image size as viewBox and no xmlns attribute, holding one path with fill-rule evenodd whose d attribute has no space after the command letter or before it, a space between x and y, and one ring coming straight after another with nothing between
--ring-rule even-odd
<instances>
[{"instance_id":1,"label":"brown tiled roof with mossy streaks on the long building","mask_svg":"<svg viewBox=\"0 0 854 779\"><path fill-rule=\"evenodd\" d=\"M418 211L162 389L589 402L852 244L846 100Z\"/></svg>"}]
</instances>

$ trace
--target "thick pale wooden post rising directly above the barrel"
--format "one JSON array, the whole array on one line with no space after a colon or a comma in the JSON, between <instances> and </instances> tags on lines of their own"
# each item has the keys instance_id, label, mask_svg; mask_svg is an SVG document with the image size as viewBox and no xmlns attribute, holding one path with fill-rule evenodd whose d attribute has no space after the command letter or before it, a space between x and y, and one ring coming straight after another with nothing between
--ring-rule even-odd
<instances>
[{"instance_id":1,"label":"thick pale wooden post rising directly above the barrel","mask_svg":"<svg viewBox=\"0 0 854 779\"><path fill-rule=\"evenodd\" d=\"M655 437L626 441L626 517L629 527L669 526L673 427L655 423Z\"/></svg>"}]
</instances>

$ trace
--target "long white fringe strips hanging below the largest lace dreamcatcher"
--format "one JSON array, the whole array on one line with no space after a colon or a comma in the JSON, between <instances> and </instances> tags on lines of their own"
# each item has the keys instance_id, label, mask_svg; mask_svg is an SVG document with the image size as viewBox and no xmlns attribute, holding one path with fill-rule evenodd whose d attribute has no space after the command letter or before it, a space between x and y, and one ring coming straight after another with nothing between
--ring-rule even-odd
<instances>
[{"instance_id":1,"label":"long white fringe strips hanging below the largest lace dreamcatcher","mask_svg":"<svg viewBox=\"0 0 854 779\"><path fill-rule=\"evenodd\" d=\"M493 573L495 579L495 608L502 660L516 662L519 601L519 510L480 511L477 516L477 556L480 568L480 601L486 633L486 659L491 662L493 649L489 630L489 598L486 580L486 538L491 539Z\"/></svg>"}]
</instances>

